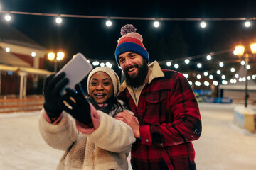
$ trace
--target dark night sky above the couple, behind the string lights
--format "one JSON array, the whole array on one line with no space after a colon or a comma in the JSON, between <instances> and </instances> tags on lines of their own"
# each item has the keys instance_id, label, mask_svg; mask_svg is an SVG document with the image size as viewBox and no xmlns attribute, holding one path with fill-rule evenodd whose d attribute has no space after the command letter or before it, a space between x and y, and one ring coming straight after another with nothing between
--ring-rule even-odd
<instances>
[{"instance_id":1,"label":"dark night sky above the couple, behind the string lights","mask_svg":"<svg viewBox=\"0 0 256 170\"><path fill-rule=\"evenodd\" d=\"M156 18L237 18L255 17L256 1L35 1L0 0L3 11L63 13L90 16L124 16ZM3 16L3 14L1 14ZM63 18L57 26L50 16L13 15L11 26L47 49L62 49L72 57L113 60L120 28L133 24L142 34L151 62L202 55L232 49L239 42L256 38L256 22L245 28L244 21L208 21L205 29L199 21L114 20L112 27L104 19Z\"/></svg>"}]
</instances>

